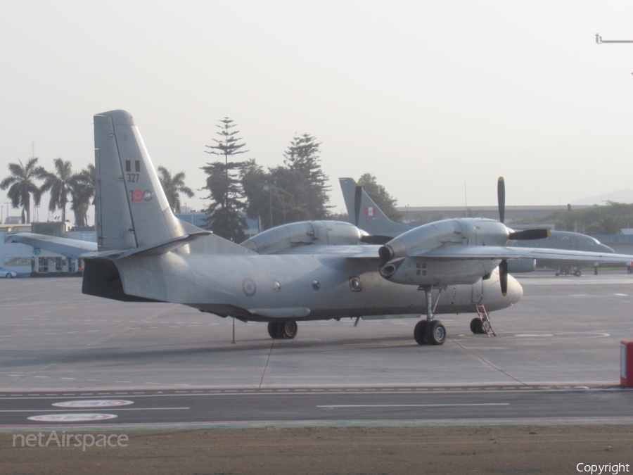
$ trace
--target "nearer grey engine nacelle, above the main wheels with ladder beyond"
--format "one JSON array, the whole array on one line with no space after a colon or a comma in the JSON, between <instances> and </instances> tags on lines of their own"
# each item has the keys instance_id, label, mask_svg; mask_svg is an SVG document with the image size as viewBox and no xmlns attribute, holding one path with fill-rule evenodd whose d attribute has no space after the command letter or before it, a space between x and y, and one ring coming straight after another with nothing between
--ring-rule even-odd
<instances>
[{"instance_id":1,"label":"nearer grey engine nacelle, above the main wheels with ladder beyond","mask_svg":"<svg viewBox=\"0 0 633 475\"><path fill-rule=\"evenodd\" d=\"M445 246L505 246L509 230L494 220L461 218L423 224L380 248L381 276L398 284L474 284L500 260L445 260L427 256Z\"/></svg>"}]
</instances>

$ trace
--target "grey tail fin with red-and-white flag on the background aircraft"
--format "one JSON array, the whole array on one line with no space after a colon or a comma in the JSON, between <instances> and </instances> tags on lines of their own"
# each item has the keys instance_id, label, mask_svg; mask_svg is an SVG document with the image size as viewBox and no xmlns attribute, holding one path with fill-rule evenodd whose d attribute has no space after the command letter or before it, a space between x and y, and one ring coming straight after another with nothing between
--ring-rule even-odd
<instances>
[{"instance_id":1,"label":"grey tail fin with red-and-white flag on the background aircraft","mask_svg":"<svg viewBox=\"0 0 633 475\"><path fill-rule=\"evenodd\" d=\"M353 178L339 178L349 221L372 235L398 236L409 231L407 224L393 222L378 208Z\"/></svg>"}]
</instances>

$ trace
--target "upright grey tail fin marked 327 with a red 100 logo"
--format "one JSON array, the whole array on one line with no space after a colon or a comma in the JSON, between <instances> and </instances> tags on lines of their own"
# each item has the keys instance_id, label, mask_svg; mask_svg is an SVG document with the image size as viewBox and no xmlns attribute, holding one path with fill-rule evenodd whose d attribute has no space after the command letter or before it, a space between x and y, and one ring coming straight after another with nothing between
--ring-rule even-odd
<instances>
[{"instance_id":1,"label":"upright grey tail fin marked 327 with a red 100 logo","mask_svg":"<svg viewBox=\"0 0 633 475\"><path fill-rule=\"evenodd\" d=\"M94 116L95 224L100 251L129 249L186 234L174 217L132 115Z\"/></svg>"}]
</instances>

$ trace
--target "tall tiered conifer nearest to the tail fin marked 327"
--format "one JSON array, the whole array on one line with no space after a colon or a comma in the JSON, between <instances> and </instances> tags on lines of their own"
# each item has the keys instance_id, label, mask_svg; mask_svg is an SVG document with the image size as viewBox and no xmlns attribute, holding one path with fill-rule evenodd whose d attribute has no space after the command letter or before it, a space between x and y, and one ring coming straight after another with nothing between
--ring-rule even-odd
<instances>
[{"instance_id":1,"label":"tall tiered conifer nearest to the tail fin marked 327","mask_svg":"<svg viewBox=\"0 0 633 475\"><path fill-rule=\"evenodd\" d=\"M243 163L229 161L229 158L246 153L243 150L245 144L241 144L241 138L236 137L237 130L233 120L225 117L220 120L217 125L220 131L217 134L220 139L213 139L215 145L206 145L210 150L205 151L212 155L224 156L224 163L213 162L207 163L202 170L209 175L207 177L206 186L210 192L207 198L213 201L206 210L207 229L224 239L234 242L244 241L246 235L246 220L243 216L245 203L243 202L243 189L240 181L240 172Z\"/></svg>"}]
</instances>

